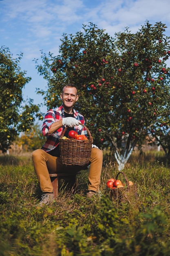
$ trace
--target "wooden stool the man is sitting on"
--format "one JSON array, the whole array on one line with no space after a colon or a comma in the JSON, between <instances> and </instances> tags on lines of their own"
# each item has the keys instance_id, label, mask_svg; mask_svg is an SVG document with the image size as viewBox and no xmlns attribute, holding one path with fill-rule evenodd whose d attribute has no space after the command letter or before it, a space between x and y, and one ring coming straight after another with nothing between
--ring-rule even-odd
<instances>
[{"instance_id":1,"label":"wooden stool the man is sitting on","mask_svg":"<svg viewBox=\"0 0 170 256\"><path fill-rule=\"evenodd\" d=\"M80 174L81 172L76 173ZM54 194L54 198L57 198L58 196L58 181L59 179L64 179L64 177L66 176L73 176L75 177L76 175L70 175L69 173L49 173L50 178L51 178L51 183L53 185L53 194Z\"/></svg>"}]
</instances>

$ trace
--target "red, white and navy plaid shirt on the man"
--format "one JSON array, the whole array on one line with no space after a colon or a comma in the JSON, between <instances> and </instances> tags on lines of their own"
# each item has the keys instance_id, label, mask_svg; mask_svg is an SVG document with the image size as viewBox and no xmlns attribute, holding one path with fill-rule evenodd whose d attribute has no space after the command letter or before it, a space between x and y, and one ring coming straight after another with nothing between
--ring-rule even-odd
<instances>
[{"instance_id":1,"label":"red, white and navy plaid shirt on the man","mask_svg":"<svg viewBox=\"0 0 170 256\"><path fill-rule=\"evenodd\" d=\"M74 118L80 121L82 124L85 125L84 116L79 114L75 109L73 109L73 115ZM44 122L42 124L42 134L46 136L46 142L42 146L42 149L46 152L49 152L56 148L59 145L59 138L61 137L63 129L66 127L62 126L59 128L55 133L49 134L49 130L51 128L51 125L60 119L64 118L64 108L63 106L60 106L59 108L50 109L46 112L46 115L44 117ZM87 135L87 131L84 128L84 126L75 126L74 130L78 134L85 134Z\"/></svg>"}]
</instances>

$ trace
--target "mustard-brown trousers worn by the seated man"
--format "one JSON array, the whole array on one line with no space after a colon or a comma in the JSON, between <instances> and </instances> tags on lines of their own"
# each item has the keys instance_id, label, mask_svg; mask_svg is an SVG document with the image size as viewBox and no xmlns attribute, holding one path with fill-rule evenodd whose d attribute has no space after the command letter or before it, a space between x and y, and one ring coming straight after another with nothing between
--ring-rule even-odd
<instances>
[{"instance_id":1,"label":"mustard-brown trousers worn by the seated man","mask_svg":"<svg viewBox=\"0 0 170 256\"><path fill-rule=\"evenodd\" d=\"M32 159L34 170L38 181L40 182L42 192L53 192L49 173L71 173L71 175L74 175L84 168L84 166L66 166L62 164L60 157L54 157L42 149L36 149L33 151ZM102 150L92 148L88 175L88 190L99 192L102 164Z\"/></svg>"}]
</instances>

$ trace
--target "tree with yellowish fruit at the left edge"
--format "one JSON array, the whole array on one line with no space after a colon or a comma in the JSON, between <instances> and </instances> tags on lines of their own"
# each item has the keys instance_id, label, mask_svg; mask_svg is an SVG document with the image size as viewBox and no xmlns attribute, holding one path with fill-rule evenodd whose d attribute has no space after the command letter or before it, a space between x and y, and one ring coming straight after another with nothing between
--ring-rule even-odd
<instances>
[{"instance_id":1,"label":"tree with yellowish fruit at the left edge","mask_svg":"<svg viewBox=\"0 0 170 256\"><path fill-rule=\"evenodd\" d=\"M25 77L19 62L22 54L13 58L7 47L0 47L0 150L6 152L21 131L29 131L40 116L33 100L23 101L22 89L31 78Z\"/></svg>"}]
</instances>

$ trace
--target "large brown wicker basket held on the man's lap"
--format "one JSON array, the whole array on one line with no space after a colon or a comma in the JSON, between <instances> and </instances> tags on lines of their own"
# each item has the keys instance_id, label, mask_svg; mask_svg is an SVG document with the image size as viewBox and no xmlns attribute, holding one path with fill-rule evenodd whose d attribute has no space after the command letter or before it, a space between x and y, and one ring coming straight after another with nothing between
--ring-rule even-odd
<instances>
[{"instance_id":1,"label":"large brown wicker basket held on the man's lap","mask_svg":"<svg viewBox=\"0 0 170 256\"><path fill-rule=\"evenodd\" d=\"M62 164L80 166L89 164L93 138L88 128L84 124L81 125L84 126L88 132L89 139L87 140L62 139L68 127L66 127L62 132L59 139Z\"/></svg>"}]
</instances>

